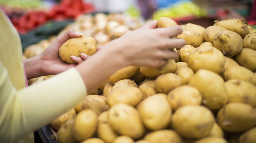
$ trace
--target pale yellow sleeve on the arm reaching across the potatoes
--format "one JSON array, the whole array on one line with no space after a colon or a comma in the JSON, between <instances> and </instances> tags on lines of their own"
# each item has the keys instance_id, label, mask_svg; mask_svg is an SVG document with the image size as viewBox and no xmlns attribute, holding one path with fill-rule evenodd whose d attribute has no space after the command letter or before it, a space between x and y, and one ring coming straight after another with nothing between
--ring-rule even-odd
<instances>
[{"instance_id":1,"label":"pale yellow sleeve on the arm reaching across the potatoes","mask_svg":"<svg viewBox=\"0 0 256 143\"><path fill-rule=\"evenodd\" d=\"M75 107L87 95L75 68L16 90L0 60L0 138L14 142Z\"/></svg>"}]
</instances>

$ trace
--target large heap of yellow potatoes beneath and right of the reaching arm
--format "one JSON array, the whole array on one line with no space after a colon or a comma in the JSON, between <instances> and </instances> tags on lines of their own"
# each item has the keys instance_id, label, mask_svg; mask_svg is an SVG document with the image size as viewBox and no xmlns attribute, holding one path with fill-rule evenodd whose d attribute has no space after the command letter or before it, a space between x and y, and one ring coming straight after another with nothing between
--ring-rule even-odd
<instances>
[{"instance_id":1,"label":"large heap of yellow potatoes beneath and right of the reaching arm","mask_svg":"<svg viewBox=\"0 0 256 143\"><path fill-rule=\"evenodd\" d=\"M84 27L91 26L87 22ZM108 22L96 29L107 32L117 24ZM162 17L157 28L174 25ZM49 123L57 141L255 143L256 30L243 19L216 21L207 28L179 26L183 33L177 38L186 45L175 49L177 59L158 68L128 66L114 73Z\"/></svg>"}]
</instances>

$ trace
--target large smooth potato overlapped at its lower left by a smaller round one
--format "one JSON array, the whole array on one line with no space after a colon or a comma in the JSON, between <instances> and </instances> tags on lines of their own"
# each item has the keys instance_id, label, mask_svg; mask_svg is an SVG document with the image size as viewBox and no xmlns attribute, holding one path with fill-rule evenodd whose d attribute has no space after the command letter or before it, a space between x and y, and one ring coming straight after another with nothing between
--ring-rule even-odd
<instances>
[{"instance_id":1,"label":"large smooth potato overlapped at its lower left by a smaller round one","mask_svg":"<svg viewBox=\"0 0 256 143\"><path fill-rule=\"evenodd\" d=\"M188 84L200 91L203 105L210 109L219 109L227 103L228 95L224 80L215 72L201 69L190 78Z\"/></svg>"}]
</instances>

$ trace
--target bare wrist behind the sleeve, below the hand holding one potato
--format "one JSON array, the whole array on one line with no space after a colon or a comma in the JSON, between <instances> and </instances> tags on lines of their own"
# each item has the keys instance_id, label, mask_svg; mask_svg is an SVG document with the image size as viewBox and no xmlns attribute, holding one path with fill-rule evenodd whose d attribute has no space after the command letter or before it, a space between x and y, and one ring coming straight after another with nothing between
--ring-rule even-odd
<instances>
[{"instance_id":1,"label":"bare wrist behind the sleeve, below the hand holding one potato","mask_svg":"<svg viewBox=\"0 0 256 143\"><path fill-rule=\"evenodd\" d=\"M41 73L42 61L40 60L40 54L28 59L24 59L23 63L24 63L28 80L42 75Z\"/></svg>"}]
</instances>

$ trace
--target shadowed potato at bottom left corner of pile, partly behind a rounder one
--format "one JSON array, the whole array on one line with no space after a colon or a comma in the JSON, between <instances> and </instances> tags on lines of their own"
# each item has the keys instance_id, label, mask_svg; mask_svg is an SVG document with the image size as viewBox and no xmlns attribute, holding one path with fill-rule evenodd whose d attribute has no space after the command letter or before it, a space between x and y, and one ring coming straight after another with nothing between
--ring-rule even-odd
<instances>
[{"instance_id":1,"label":"shadowed potato at bottom left corner of pile, partly behind a rounder one","mask_svg":"<svg viewBox=\"0 0 256 143\"><path fill-rule=\"evenodd\" d=\"M57 131L57 142L58 143L75 143L75 138L72 134L72 127L75 119L69 119L62 124L62 126Z\"/></svg>"}]
</instances>

